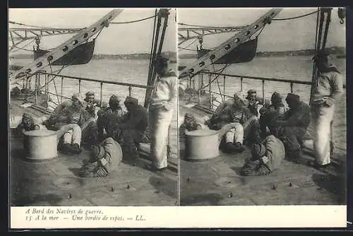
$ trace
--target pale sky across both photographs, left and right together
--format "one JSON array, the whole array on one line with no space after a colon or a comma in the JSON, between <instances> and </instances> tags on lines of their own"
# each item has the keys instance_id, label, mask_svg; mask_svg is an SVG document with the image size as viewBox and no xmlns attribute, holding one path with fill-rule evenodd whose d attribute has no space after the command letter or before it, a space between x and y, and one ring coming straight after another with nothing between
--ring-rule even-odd
<instances>
[{"instance_id":1,"label":"pale sky across both photographs, left and right together","mask_svg":"<svg viewBox=\"0 0 353 236\"><path fill-rule=\"evenodd\" d=\"M178 8L179 23L210 26L239 26L253 23L270 8ZM112 8L10 8L9 20L28 25L52 28L84 28L112 11ZM316 8L283 8L275 18L288 18L316 11ZM176 52L177 25L175 9L169 15L163 51ZM113 22L138 20L152 16L155 8L126 8ZM332 11L328 47L345 47L345 25L339 23L337 8ZM11 27L18 27L12 25ZM181 26L184 27L184 26ZM104 28L95 45L95 54L149 53L152 42L153 19L138 23L109 25ZM258 52L312 49L315 44L316 14L295 20L273 21L266 25L258 41ZM203 47L215 47L232 37L234 33L224 33L205 37ZM56 47L72 35L42 37L41 48ZM185 42L181 47L188 45ZM25 45L28 42L23 42ZM197 43L197 42L196 42ZM196 49L196 43L188 48ZM32 49L31 45L26 47ZM19 45L21 46L21 45ZM179 51L181 54L190 51ZM25 53L20 51L18 53ZM28 52L27 52L28 53Z\"/></svg>"}]
</instances>

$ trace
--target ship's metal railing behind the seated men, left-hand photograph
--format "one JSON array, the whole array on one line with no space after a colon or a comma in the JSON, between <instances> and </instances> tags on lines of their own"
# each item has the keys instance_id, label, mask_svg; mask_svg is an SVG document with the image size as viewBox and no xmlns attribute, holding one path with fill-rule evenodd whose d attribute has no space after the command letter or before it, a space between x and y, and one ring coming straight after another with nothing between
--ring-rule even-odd
<instances>
[{"instance_id":1,"label":"ship's metal railing behind the seated men, left-hand photograph","mask_svg":"<svg viewBox=\"0 0 353 236\"><path fill-rule=\"evenodd\" d=\"M28 85L30 85L31 82L28 82L30 78L27 78L27 81L23 81L23 85L27 88ZM44 83L43 83L44 80ZM58 85L56 85L56 81L60 81ZM63 98L66 99L71 99L70 96L65 96L64 95L64 83L65 81L68 80L73 80L73 81L78 81L78 88L77 92L80 93L83 87L83 82L93 82L97 83L97 85L100 86L100 101L103 101L103 95L104 95L104 90L103 90L103 85L119 85L119 86L124 86L127 87L128 89L128 95L131 96L131 92L133 88L150 88L152 86L148 85L140 85L136 83L124 83L124 82L117 82L117 81L104 81L104 80L97 80L93 78L83 78L83 77L78 77L78 76L66 76L66 75L58 75L55 73L47 73L46 71L38 71L35 73L35 90L44 92L44 94L47 95L54 95L56 97L56 101L52 100L52 102L56 105L59 105L63 101ZM49 84L52 83L54 85L54 93L49 90ZM58 88L60 87L60 89ZM97 87L96 87L97 88ZM116 89L116 91L119 91L121 93L121 89ZM75 93L77 93L75 92Z\"/></svg>"}]
</instances>

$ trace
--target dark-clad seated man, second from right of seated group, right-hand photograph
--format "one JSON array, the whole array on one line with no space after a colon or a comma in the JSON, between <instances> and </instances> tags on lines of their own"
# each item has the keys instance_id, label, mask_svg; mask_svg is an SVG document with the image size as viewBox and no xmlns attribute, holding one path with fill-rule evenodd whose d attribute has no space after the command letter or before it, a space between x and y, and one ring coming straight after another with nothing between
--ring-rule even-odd
<instances>
[{"instance_id":1,"label":"dark-clad seated man, second from right of seated group, right-hand photograph","mask_svg":"<svg viewBox=\"0 0 353 236\"><path fill-rule=\"evenodd\" d=\"M267 136L267 128L275 129L273 121L285 113L285 105L282 102L280 93L274 92L271 95L271 104L265 103L260 109L261 136ZM276 134L275 131L273 134Z\"/></svg>"}]
</instances>

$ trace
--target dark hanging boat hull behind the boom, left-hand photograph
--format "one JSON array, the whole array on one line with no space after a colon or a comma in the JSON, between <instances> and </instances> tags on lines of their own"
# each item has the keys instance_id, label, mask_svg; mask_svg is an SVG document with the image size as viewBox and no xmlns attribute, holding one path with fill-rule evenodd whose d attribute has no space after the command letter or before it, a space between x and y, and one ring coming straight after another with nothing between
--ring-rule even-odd
<instances>
[{"instance_id":1,"label":"dark hanging boat hull behind the boom, left-hand photograph","mask_svg":"<svg viewBox=\"0 0 353 236\"><path fill-rule=\"evenodd\" d=\"M87 64L92 59L93 51L95 49L95 41L86 42L73 49L68 54L64 55L52 63L53 66L63 66L63 65L82 65ZM37 49L34 51L34 59L47 54L48 50Z\"/></svg>"}]
</instances>

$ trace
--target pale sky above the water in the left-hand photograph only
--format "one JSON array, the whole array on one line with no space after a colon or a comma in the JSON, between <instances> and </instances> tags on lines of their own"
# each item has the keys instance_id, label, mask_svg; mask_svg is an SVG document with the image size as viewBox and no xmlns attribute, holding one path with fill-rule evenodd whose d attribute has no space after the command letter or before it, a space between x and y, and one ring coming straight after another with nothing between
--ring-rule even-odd
<instances>
[{"instance_id":1,"label":"pale sky above the water in the left-hand photograph only","mask_svg":"<svg viewBox=\"0 0 353 236\"><path fill-rule=\"evenodd\" d=\"M95 23L113 8L10 8L8 19L16 23L51 28L85 28ZM176 52L175 9L171 9L162 51ZM155 8L125 8L112 22L139 20L153 16ZM163 22L163 21L162 21ZM95 54L150 53L154 19L138 23L110 24L96 40ZM23 26L9 24L13 28ZM162 28L161 28L162 30ZM49 49L60 45L73 35L42 37L40 48ZM26 45L30 40L23 42ZM18 47L21 47L18 45ZM25 47L32 49L32 44ZM29 53L23 50L17 53ZM16 54L16 53L14 53Z\"/></svg>"}]
</instances>

